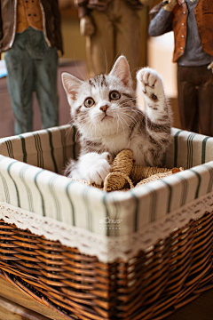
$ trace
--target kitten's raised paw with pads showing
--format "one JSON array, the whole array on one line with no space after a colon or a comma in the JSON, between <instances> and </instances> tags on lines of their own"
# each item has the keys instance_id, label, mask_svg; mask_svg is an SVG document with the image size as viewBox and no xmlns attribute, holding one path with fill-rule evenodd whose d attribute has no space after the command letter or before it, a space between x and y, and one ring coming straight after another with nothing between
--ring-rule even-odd
<instances>
[{"instance_id":1,"label":"kitten's raised paw with pads showing","mask_svg":"<svg viewBox=\"0 0 213 320\"><path fill-rule=\"evenodd\" d=\"M162 78L153 68L142 68L137 74L138 82L144 92L145 98L157 102L165 97Z\"/></svg>"}]
</instances>

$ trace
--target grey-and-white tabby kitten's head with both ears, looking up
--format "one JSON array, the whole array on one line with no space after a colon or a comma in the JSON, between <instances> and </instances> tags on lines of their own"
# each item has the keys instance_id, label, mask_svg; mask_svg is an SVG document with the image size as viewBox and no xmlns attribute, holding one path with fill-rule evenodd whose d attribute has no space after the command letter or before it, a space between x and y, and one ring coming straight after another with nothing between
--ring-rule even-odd
<instances>
[{"instance_id":1,"label":"grey-and-white tabby kitten's head with both ears, looking up","mask_svg":"<svg viewBox=\"0 0 213 320\"><path fill-rule=\"evenodd\" d=\"M82 81L62 74L71 116L78 130L88 138L101 138L125 130L130 110L135 107L129 64L121 56L108 75Z\"/></svg>"}]
</instances>

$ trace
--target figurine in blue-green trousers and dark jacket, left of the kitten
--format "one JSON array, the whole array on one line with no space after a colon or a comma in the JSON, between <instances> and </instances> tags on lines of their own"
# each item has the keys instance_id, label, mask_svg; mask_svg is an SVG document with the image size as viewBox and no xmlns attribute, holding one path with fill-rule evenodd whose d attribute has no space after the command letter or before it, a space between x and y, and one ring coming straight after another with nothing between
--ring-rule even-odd
<instances>
[{"instance_id":1,"label":"figurine in blue-green trousers and dark jacket, left of the kitten","mask_svg":"<svg viewBox=\"0 0 213 320\"><path fill-rule=\"evenodd\" d=\"M57 51L63 52L58 0L0 0L0 53L5 52L15 134L33 130L34 91L43 127L58 125Z\"/></svg>"}]
</instances>

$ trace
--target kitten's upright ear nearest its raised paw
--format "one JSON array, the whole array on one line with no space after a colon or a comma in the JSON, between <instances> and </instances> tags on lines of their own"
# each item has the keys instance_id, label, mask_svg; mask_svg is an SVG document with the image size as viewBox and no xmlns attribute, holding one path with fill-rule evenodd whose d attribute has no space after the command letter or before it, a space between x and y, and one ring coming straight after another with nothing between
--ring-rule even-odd
<instances>
[{"instance_id":1,"label":"kitten's upright ear nearest its raised paw","mask_svg":"<svg viewBox=\"0 0 213 320\"><path fill-rule=\"evenodd\" d=\"M124 85L131 85L131 75L129 63L124 56L119 57L115 63L114 68L110 72L111 76L116 76Z\"/></svg>"}]
</instances>

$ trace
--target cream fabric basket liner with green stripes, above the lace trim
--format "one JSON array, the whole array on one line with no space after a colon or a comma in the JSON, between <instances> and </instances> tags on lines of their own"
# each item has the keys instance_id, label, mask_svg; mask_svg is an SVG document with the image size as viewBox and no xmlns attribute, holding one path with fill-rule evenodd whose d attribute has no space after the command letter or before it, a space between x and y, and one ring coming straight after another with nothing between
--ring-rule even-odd
<instances>
[{"instance_id":1,"label":"cream fabric basket liner with green stripes, above the lace trim","mask_svg":"<svg viewBox=\"0 0 213 320\"><path fill-rule=\"evenodd\" d=\"M164 157L184 172L128 192L106 193L60 173L75 157L75 127L0 140L0 202L106 236L124 236L213 190L213 138L172 129Z\"/></svg>"}]
</instances>

